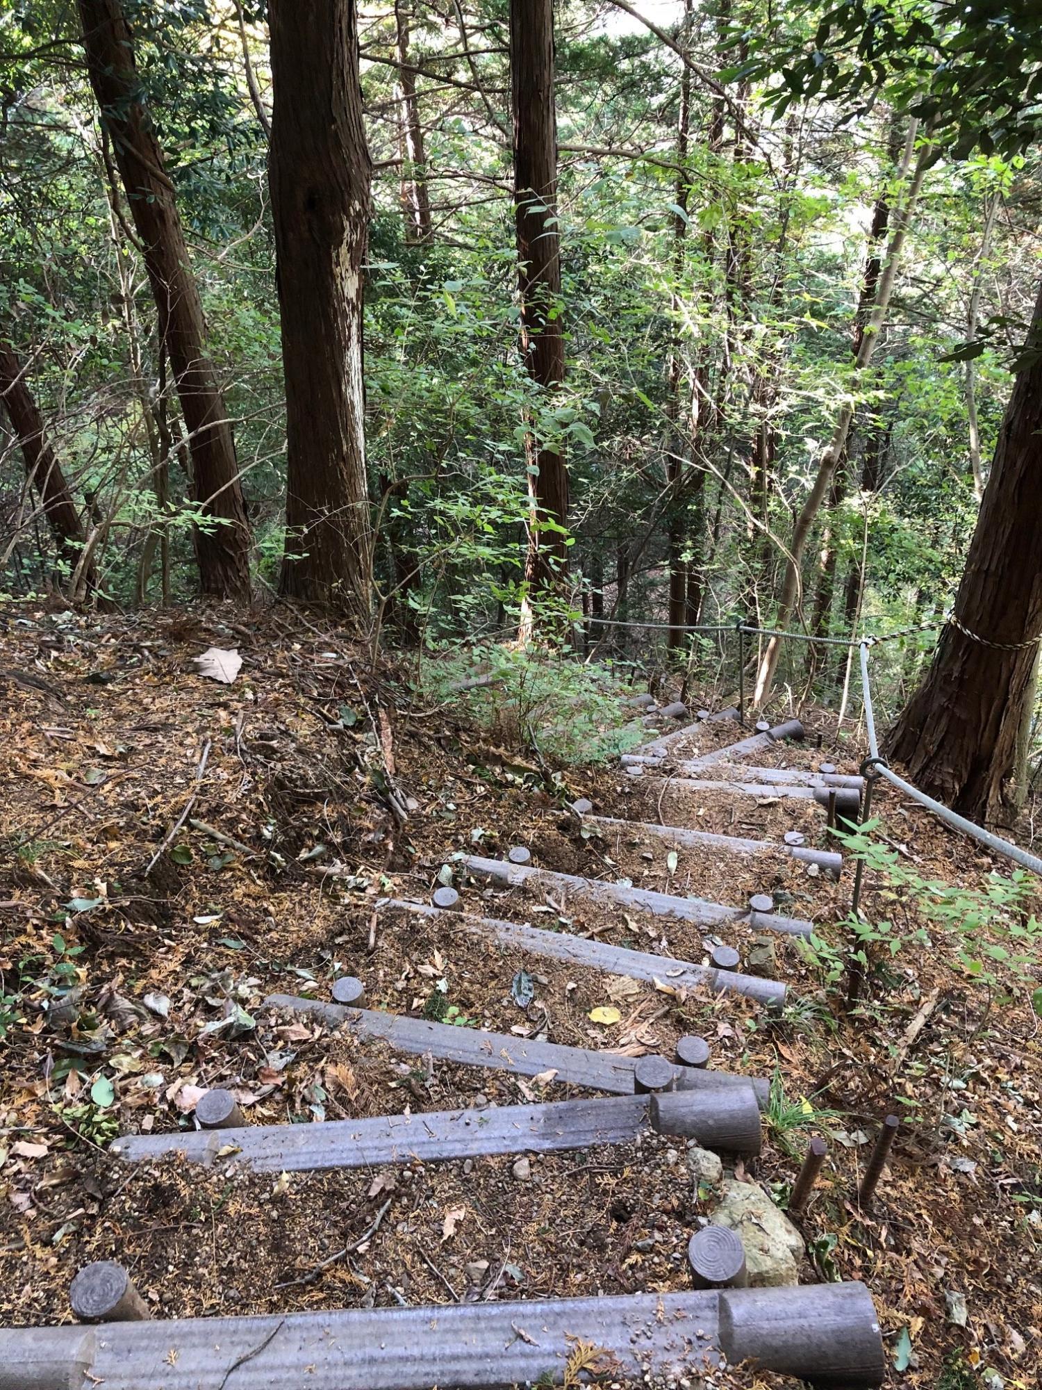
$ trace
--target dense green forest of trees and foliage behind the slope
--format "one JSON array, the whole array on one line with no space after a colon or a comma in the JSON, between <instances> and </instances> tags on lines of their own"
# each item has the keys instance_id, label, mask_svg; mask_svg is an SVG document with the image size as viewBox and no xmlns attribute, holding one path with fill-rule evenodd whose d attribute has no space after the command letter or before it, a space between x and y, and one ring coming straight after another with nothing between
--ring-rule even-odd
<instances>
[{"instance_id":1,"label":"dense green forest of trees and foliage behind the slope","mask_svg":"<svg viewBox=\"0 0 1042 1390\"><path fill-rule=\"evenodd\" d=\"M347 25L331 54L292 7L272 7L270 47L247 0L8 0L6 592L171 603L200 571L225 595L282 571L283 592L313 596L286 581L304 549L286 441L314 477L322 375L360 345L313 313L321 286L299 274L301 189L338 178L318 154L308 167L307 107L328 75L354 100L357 25L371 179L358 165L345 192L364 222L352 506L368 514L350 545L371 569L375 596L354 605L371 630L496 638L535 605L556 631L588 620L602 651L661 638L682 657L681 626L739 616L832 637L939 621L1038 279L1036 26L1029 7L1002 22L993 8L895 7L884 22L853 3L540 0L524 18L507 0L395 0L331 6ZM525 75L529 42L543 71ZM540 82L556 188L518 288L518 161L540 138L524 131ZM364 154L357 131L340 135ZM183 232L165 309L150 217ZM543 243L534 332L525 267ZM182 310L207 356L203 423L176 360ZM534 353L554 339L563 357L540 379ZM552 467L567 467L557 520L545 498L532 510ZM674 630L606 637L603 619ZM886 652L886 712L931 644ZM763 695L774 660L764 649L750 671ZM782 663L829 703L849 689L845 652L793 645Z\"/></svg>"}]
</instances>

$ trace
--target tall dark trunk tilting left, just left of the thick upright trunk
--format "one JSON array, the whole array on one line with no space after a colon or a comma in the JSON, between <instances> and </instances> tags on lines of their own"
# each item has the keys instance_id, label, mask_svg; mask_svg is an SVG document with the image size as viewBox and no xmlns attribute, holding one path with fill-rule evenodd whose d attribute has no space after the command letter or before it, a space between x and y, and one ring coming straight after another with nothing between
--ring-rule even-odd
<instances>
[{"instance_id":1,"label":"tall dark trunk tilting left, just left of the thick upright trunk","mask_svg":"<svg viewBox=\"0 0 1042 1390\"><path fill-rule=\"evenodd\" d=\"M142 101L133 39L119 0L79 0L90 85L111 138L144 267L156 299L160 332L192 449L192 496L211 525L196 534L204 594L249 598L250 530L235 459L232 427L217 373L206 356L206 322L192 274L174 185Z\"/></svg>"}]
</instances>

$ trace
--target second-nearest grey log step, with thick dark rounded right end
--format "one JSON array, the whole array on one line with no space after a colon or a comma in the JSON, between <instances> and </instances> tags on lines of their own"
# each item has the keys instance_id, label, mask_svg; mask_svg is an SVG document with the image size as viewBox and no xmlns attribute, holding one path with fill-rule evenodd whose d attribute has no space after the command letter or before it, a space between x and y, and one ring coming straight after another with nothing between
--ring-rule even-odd
<instances>
[{"instance_id":1,"label":"second-nearest grey log step, with thick dark rounded right end","mask_svg":"<svg viewBox=\"0 0 1042 1390\"><path fill-rule=\"evenodd\" d=\"M670 1095L677 1113L660 1134L692 1137L702 1148L759 1154L760 1108L752 1086ZM220 1134L126 1134L117 1158L139 1162L183 1154L196 1163L235 1161L260 1173L318 1172L379 1163L449 1162L490 1154L556 1154L600 1144L631 1144L649 1134L646 1095L490 1105L483 1111L424 1111L322 1125L246 1125Z\"/></svg>"}]
</instances>

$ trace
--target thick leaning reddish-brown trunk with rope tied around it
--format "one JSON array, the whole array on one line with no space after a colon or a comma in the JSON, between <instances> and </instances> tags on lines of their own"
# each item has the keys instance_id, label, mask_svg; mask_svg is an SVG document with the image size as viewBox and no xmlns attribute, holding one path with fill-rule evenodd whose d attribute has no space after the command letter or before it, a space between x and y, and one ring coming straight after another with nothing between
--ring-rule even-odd
<instances>
[{"instance_id":1,"label":"thick leaning reddish-brown trunk with rope tied around it","mask_svg":"<svg viewBox=\"0 0 1042 1390\"><path fill-rule=\"evenodd\" d=\"M1042 288L1002 421L952 621L885 741L923 791L1007 821L1042 634Z\"/></svg>"}]
</instances>

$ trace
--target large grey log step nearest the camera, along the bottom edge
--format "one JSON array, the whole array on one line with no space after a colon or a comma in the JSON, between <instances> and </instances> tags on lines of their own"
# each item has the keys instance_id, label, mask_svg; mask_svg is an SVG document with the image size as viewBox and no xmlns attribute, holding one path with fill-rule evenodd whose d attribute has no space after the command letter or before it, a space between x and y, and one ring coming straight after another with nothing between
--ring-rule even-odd
<instances>
[{"instance_id":1,"label":"large grey log step nearest the camera, along the bottom edge","mask_svg":"<svg viewBox=\"0 0 1042 1390\"><path fill-rule=\"evenodd\" d=\"M831 1390L874 1390L885 1375L864 1284L813 1284L6 1329L0 1390L238 1390L236 1379L249 1390L511 1390L560 1384L577 1341L634 1384L697 1379L720 1358Z\"/></svg>"}]
</instances>

